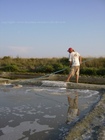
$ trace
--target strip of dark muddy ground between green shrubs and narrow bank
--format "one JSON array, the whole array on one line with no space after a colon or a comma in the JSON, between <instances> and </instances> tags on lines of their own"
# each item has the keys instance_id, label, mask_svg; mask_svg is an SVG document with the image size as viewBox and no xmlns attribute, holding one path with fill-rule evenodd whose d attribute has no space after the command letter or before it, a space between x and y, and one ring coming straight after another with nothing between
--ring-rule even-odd
<instances>
[{"instance_id":1,"label":"strip of dark muddy ground between green shrubs and narrow bank","mask_svg":"<svg viewBox=\"0 0 105 140\"><path fill-rule=\"evenodd\" d=\"M0 74L0 78L5 79L35 79L35 80L54 80L54 81L66 81L67 75L60 74L14 74L3 72ZM1 81L1 80L0 80ZM75 82L75 77L71 78L71 82ZM80 75L79 83L88 83L88 84L100 84L105 85L105 77L102 76L85 76Z\"/></svg>"}]
</instances>

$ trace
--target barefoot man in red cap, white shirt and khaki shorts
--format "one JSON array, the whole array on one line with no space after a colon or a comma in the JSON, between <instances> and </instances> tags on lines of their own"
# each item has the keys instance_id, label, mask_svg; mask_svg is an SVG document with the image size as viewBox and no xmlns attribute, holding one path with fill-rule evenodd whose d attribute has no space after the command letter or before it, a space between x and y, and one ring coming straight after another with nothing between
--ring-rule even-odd
<instances>
[{"instance_id":1,"label":"barefoot man in red cap, white shirt and khaki shorts","mask_svg":"<svg viewBox=\"0 0 105 140\"><path fill-rule=\"evenodd\" d=\"M69 82L70 78L75 75L76 83L78 83L79 70L80 70L80 64L82 63L82 57L80 56L78 52L75 52L73 48L69 48L68 52L69 52L69 61L70 61L71 71L68 75L66 82Z\"/></svg>"}]
</instances>

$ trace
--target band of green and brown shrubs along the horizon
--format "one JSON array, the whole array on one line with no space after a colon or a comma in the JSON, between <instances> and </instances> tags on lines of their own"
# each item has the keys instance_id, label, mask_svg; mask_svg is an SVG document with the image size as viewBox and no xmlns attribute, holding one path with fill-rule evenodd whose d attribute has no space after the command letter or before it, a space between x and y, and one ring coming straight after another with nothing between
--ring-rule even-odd
<instances>
[{"instance_id":1,"label":"band of green and brown shrubs along the horizon","mask_svg":"<svg viewBox=\"0 0 105 140\"><path fill-rule=\"evenodd\" d=\"M83 58L81 75L105 76L105 58ZM0 58L0 72L68 74L68 58Z\"/></svg>"}]
</instances>

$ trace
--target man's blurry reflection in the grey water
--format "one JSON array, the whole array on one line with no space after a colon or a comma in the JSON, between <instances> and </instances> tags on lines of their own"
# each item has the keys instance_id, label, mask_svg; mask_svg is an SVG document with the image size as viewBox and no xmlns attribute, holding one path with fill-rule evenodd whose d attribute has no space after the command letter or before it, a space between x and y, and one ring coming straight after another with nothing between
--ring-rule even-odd
<instances>
[{"instance_id":1,"label":"man's blurry reflection in the grey water","mask_svg":"<svg viewBox=\"0 0 105 140\"><path fill-rule=\"evenodd\" d=\"M78 109L78 93L75 93L75 98L71 98L70 96L67 97L68 100L68 111L67 111L67 121L69 122L73 121L78 115L79 115L79 109Z\"/></svg>"}]
</instances>

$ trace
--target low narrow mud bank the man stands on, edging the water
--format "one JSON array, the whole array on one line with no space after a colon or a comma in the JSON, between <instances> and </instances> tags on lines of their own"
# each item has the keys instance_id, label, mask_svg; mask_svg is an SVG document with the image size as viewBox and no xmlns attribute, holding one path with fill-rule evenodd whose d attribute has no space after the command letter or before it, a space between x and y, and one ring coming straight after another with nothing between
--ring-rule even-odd
<instances>
[{"instance_id":1,"label":"low narrow mud bank the man stands on, edging the water","mask_svg":"<svg viewBox=\"0 0 105 140\"><path fill-rule=\"evenodd\" d=\"M91 78L92 79L92 78ZM95 79L96 80L96 79ZM8 84L8 83L13 83L13 84L22 84L22 85L37 85L41 86L43 83L47 83L46 86L53 86L54 83L61 83L61 86L65 86L66 88L75 88L75 89L92 89L92 90L105 90L105 84L88 84L88 83L75 83L75 82L63 82L61 81L56 81L54 79L19 79L19 80L10 80L10 79L5 79L5 78L0 78L0 84ZM50 84L49 84L50 83ZM54 86L56 86L56 84Z\"/></svg>"}]
</instances>

